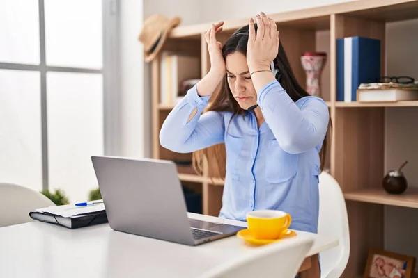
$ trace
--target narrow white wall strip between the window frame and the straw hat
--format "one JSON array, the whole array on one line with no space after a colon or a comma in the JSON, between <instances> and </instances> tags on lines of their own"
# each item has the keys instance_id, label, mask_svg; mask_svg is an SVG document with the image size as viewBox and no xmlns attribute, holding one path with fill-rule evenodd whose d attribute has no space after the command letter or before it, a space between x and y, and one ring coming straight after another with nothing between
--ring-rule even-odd
<instances>
[{"instance_id":1,"label":"narrow white wall strip between the window frame and the straw hat","mask_svg":"<svg viewBox=\"0 0 418 278\"><path fill-rule=\"evenodd\" d=\"M144 6L141 0L120 0L118 9L121 87L116 93L120 101L118 111L121 126L118 134L114 134L120 144L120 153L117 155L142 157L146 156L150 143L146 136L149 116L144 110L144 52L137 40L142 27Z\"/></svg>"}]
</instances>

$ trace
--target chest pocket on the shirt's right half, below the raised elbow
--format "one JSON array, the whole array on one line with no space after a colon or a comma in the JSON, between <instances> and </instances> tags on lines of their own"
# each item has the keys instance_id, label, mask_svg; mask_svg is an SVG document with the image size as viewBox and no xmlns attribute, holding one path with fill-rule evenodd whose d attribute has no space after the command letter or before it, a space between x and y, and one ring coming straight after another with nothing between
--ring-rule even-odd
<instances>
[{"instance_id":1,"label":"chest pocket on the shirt's right half, below the raised elbow","mask_svg":"<svg viewBox=\"0 0 418 278\"><path fill-rule=\"evenodd\" d=\"M297 173L298 154L284 152L277 140L268 141L265 161L265 180L268 183L281 183L293 178Z\"/></svg>"}]
</instances>

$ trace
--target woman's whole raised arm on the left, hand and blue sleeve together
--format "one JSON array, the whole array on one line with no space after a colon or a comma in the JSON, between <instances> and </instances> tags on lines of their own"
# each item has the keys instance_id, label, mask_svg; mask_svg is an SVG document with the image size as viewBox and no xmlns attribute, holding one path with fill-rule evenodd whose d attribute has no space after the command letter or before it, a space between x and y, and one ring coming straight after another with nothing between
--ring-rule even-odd
<instances>
[{"instance_id":1,"label":"woman's whole raised arm on the left, hand and blue sleeve together","mask_svg":"<svg viewBox=\"0 0 418 278\"><path fill-rule=\"evenodd\" d=\"M224 142L224 119L222 113L202 111L208 105L210 95L225 75L222 44L216 33L222 31L224 22L212 24L205 38L210 56L210 71L169 113L162 124L160 144L173 152L194 152Z\"/></svg>"}]
</instances>

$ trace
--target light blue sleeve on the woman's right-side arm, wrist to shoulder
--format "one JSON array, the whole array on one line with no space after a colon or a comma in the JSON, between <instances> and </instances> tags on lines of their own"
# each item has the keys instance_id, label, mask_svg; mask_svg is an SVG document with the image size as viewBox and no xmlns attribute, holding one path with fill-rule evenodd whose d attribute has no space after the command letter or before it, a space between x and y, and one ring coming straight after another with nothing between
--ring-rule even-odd
<instances>
[{"instance_id":1,"label":"light blue sleeve on the woman's right-side arm, wrist to shoulder","mask_svg":"<svg viewBox=\"0 0 418 278\"><path fill-rule=\"evenodd\" d=\"M318 97L304 97L300 104L277 81L258 92L265 122L285 152L297 154L316 147L325 137L329 122L327 104Z\"/></svg>"}]
</instances>

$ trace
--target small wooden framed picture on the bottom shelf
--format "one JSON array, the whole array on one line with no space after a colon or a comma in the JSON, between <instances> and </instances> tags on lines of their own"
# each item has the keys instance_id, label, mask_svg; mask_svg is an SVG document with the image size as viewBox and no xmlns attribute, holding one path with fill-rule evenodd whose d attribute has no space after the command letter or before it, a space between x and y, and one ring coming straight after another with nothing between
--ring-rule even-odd
<instances>
[{"instance_id":1,"label":"small wooden framed picture on the bottom shelf","mask_svg":"<svg viewBox=\"0 0 418 278\"><path fill-rule=\"evenodd\" d=\"M372 249L363 278L413 278L415 257Z\"/></svg>"}]
</instances>

